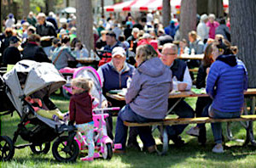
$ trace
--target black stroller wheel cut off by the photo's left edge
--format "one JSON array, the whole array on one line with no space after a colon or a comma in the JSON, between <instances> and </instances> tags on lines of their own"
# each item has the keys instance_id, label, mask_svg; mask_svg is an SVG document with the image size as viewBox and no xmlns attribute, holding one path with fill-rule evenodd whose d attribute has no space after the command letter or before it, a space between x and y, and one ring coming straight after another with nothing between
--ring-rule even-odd
<instances>
[{"instance_id":1,"label":"black stroller wheel cut off by the photo's left edge","mask_svg":"<svg viewBox=\"0 0 256 168\"><path fill-rule=\"evenodd\" d=\"M0 136L0 160L8 161L14 157L13 141L8 136Z\"/></svg>"}]
</instances>

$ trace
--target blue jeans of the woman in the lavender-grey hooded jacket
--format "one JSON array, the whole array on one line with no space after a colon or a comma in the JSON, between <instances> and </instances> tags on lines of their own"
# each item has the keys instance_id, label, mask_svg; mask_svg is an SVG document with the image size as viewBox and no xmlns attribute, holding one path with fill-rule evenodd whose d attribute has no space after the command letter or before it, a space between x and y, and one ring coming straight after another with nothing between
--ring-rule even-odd
<instances>
[{"instance_id":1,"label":"blue jeans of the woman in the lavender-grey hooded jacket","mask_svg":"<svg viewBox=\"0 0 256 168\"><path fill-rule=\"evenodd\" d=\"M128 127L124 125L123 121L131 122L152 122L159 121L154 119L147 119L143 116L137 115L131 108L129 104L126 104L120 111L116 122L114 143L121 143L122 150L125 150L125 143L127 138ZM137 130L143 145L145 147L150 147L155 144L154 137L151 134L151 128L149 126L137 126Z\"/></svg>"}]
</instances>

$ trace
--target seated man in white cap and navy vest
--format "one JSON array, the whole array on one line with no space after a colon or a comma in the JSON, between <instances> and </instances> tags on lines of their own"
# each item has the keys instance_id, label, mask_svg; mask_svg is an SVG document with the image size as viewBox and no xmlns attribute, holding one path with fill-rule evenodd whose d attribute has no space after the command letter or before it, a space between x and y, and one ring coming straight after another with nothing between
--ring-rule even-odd
<instances>
[{"instance_id":1,"label":"seated man in white cap and navy vest","mask_svg":"<svg viewBox=\"0 0 256 168\"><path fill-rule=\"evenodd\" d=\"M121 47L113 48L112 60L107 64L103 64L99 67L97 72L102 80L102 91L106 97L106 93L110 90L122 89L127 87L127 80L132 76L132 72L135 70L134 66L125 62L126 54L125 49ZM117 101L113 98L108 98L108 102L114 107L123 107L125 102ZM112 117L107 118L108 136L113 139L113 125Z\"/></svg>"}]
</instances>

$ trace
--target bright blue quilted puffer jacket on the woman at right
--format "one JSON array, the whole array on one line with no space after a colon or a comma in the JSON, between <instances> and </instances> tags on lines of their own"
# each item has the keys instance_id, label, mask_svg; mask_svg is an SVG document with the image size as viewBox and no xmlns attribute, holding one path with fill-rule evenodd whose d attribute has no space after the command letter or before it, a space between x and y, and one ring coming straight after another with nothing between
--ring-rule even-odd
<instances>
[{"instance_id":1,"label":"bright blue quilted puffer jacket on the woman at right","mask_svg":"<svg viewBox=\"0 0 256 168\"><path fill-rule=\"evenodd\" d=\"M235 55L219 56L207 78L207 92L213 97L212 108L222 112L241 111L246 76L245 65ZM215 91L214 86L217 86Z\"/></svg>"}]
</instances>

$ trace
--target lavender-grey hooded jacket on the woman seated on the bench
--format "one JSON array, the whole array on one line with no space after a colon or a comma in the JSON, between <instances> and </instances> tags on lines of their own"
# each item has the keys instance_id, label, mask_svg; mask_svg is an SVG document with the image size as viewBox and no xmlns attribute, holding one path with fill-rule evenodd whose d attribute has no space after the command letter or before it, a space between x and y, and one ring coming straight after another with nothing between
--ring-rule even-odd
<instances>
[{"instance_id":1,"label":"lavender-grey hooded jacket on the woman seated on the bench","mask_svg":"<svg viewBox=\"0 0 256 168\"><path fill-rule=\"evenodd\" d=\"M149 59L135 70L125 102L137 115L164 119L171 91L172 71L159 58Z\"/></svg>"}]
</instances>

